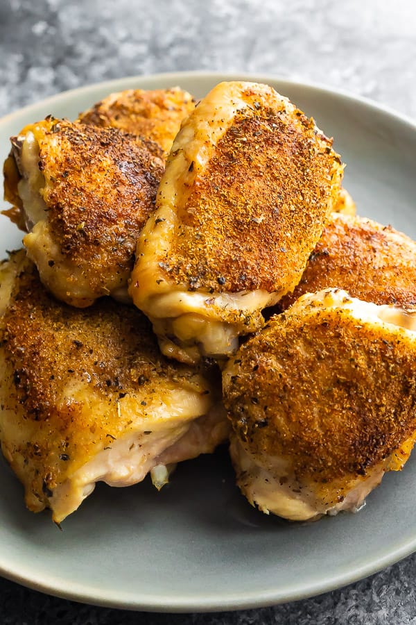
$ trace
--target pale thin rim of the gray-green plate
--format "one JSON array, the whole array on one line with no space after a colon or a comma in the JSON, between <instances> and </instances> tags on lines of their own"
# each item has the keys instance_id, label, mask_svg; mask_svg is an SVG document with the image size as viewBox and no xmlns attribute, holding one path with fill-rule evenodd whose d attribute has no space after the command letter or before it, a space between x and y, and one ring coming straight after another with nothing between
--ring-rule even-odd
<instances>
[{"instance_id":1,"label":"pale thin rim of the gray-green plate","mask_svg":"<svg viewBox=\"0 0 416 625\"><path fill-rule=\"evenodd\" d=\"M15 119L21 115L30 115L31 110L34 110L40 106L46 108L53 106L59 106L67 99L76 99L87 95L92 90L98 88L101 90L108 90L108 93L114 91L123 90L125 88L133 88L131 85L137 83L137 88L142 87L141 84L147 81L159 81L165 82L166 85L173 85L180 83L181 81L192 81L203 78L205 80L247 80L264 83L281 83L282 85L288 85L288 88L293 86L294 88L300 88L309 90L311 92L318 92L321 97L336 96L340 99L346 99L349 102L358 102L366 108L377 110L379 113L386 115L387 117L410 126L412 131L416 132L415 119L399 113L397 110L390 106L386 106L382 103L374 101L370 98L363 97L361 95L352 94L351 92L341 90L338 88L331 88L329 85L323 83L315 83L312 81L303 81L293 78L287 78L279 74L270 74L268 72L211 72L209 70L192 70L187 72L161 72L156 74L141 74L123 76L121 78L113 78L107 81L97 81L89 83L87 85L80 86L78 88L65 90L53 94L45 99L40 99L29 103L26 106L13 110L0 118L0 126L6 126L8 124L15 123ZM125 86L129 85L129 86ZM53 113L53 111L52 111ZM0 556L0 574L4 578L24 585L25 587L35 590L37 592L44 592L51 594L61 599L69 599L71 601L78 601L81 603L89 603L91 605L102 606L106 608L121 608L125 610L141 610L147 612L214 612L218 610L245 610L252 608L260 608L277 605L279 603L286 603L290 601L299 601L301 599L307 599L309 597L316 597L324 592L330 592L340 587L345 587L351 583L355 583L367 576L370 576L381 569L388 567L389 565L398 562L399 560L409 556L416 551L416 532L412 540L406 540L401 542L400 540L395 543L399 544L399 547L392 547L388 553L379 558L372 559L365 565L361 565L358 568L349 569L347 572L340 572L336 577L327 578L324 581L317 583L304 583L300 587L293 586L292 592L286 592L284 595L279 594L279 589L268 590L263 593L257 593L257 596L247 597L247 593L242 597L239 592L232 592L228 595L227 599L220 597L216 603L213 602L211 596L198 597L192 599L189 594L184 594L182 597L178 597L173 600L173 597L169 597L168 600L163 598L163 595L159 599L156 599L156 595L152 596L151 601L146 602L146 597L138 594L138 599L131 596L130 592L126 592L125 596L122 592L116 592L112 597L106 596L107 593L101 592L94 586L87 589L76 582L68 582L64 579L60 580L60 583L54 583L52 577L48 578L43 576L43 581L36 581L33 576L31 577L28 571L28 565L15 567L5 567L1 562Z\"/></svg>"}]
</instances>

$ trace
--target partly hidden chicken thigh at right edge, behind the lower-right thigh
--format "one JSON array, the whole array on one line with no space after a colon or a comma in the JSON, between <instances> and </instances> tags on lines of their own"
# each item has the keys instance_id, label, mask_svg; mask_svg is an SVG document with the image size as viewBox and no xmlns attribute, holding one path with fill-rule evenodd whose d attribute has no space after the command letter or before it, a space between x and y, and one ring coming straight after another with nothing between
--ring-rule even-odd
<instances>
[{"instance_id":1,"label":"partly hidden chicken thigh at right edge, behind the lower-right thigh","mask_svg":"<svg viewBox=\"0 0 416 625\"><path fill-rule=\"evenodd\" d=\"M302 280L277 308L286 310L304 293L345 289L376 304L416 306L416 243L371 219L333 215L309 257Z\"/></svg>"}]
</instances>

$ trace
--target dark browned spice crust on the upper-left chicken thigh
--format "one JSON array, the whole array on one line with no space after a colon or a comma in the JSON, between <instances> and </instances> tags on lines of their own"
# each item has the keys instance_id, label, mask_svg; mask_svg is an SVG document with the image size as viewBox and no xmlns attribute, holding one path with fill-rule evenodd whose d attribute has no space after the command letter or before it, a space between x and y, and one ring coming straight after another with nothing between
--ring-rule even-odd
<instances>
[{"instance_id":1,"label":"dark browned spice crust on the upper-left chicken thigh","mask_svg":"<svg viewBox=\"0 0 416 625\"><path fill-rule=\"evenodd\" d=\"M136 138L114 128L46 119L34 126L44 200L60 252L85 267L105 293L114 272L129 274L137 238L155 208L162 161Z\"/></svg>"}]
</instances>

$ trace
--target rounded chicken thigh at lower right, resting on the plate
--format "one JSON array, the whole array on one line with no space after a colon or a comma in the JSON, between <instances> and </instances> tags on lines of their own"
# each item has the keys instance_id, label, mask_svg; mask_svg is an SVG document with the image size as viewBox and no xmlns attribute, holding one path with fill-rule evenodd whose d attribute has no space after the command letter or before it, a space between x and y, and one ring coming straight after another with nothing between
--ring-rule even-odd
<instances>
[{"instance_id":1,"label":"rounded chicken thigh at lower right, resting on the plate","mask_svg":"<svg viewBox=\"0 0 416 625\"><path fill-rule=\"evenodd\" d=\"M323 290L250 338L223 372L239 487L291 520L355 511L416 437L416 309Z\"/></svg>"}]
</instances>

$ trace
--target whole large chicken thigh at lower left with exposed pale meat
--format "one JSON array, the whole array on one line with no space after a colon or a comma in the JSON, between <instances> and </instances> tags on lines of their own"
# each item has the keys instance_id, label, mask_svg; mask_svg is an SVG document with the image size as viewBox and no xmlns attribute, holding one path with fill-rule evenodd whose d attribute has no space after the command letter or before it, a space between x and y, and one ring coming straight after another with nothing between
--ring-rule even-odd
<instances>
[{"instance_id":1,"label":"whole large chicken thigh at lower left with exposed pale meat","mask_svg":"<svg viewBox=\"0 0 416 625\"><path fill-rule=\"evenodd\" d=\"M137 483L225 440L220 383L161 356L133 306L56 301L24 251L0 281L1 447L30 510L60 522L98 480Z\"/></svg>"}]
</instances>

